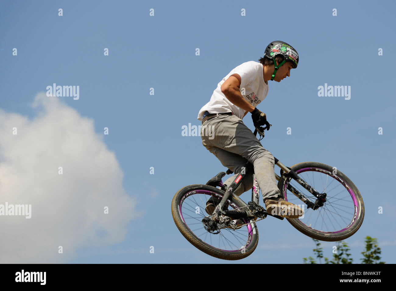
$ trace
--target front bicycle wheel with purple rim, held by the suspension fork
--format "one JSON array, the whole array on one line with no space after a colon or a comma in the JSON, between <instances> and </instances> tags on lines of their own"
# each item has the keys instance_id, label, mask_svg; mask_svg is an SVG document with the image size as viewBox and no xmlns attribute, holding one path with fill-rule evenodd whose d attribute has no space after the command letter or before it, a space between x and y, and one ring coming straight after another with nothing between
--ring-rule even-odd
<instances>
[{"instance_id":1,"label":"front bicycle wheel with purple rim, held by the suspension fork","mask_svg":"<svg viewBox=\"0 0 396 291\"><path fill-rule=\"evenodd\" d=\"M327 194L327 200L322 207L316 210L305 208L303 217L287 219L291 225L311 238L326 242L345 240L358 231L364 219L364 203L358 188L348 177L336 168L316 162L299 163L291 169L316 191ZM288 189L289 185L315 202L314 195L283 174L278 187L286 201L302 204Z\"/></svg>"}]
</instances>

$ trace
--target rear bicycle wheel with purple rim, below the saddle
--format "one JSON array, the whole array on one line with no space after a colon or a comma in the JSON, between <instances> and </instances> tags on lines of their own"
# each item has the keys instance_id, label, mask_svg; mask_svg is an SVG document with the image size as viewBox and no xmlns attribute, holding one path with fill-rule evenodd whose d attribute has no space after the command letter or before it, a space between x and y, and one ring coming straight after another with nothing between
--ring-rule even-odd
<instances>
[{"instance_id":1,"label":"rear bicycle wheel with purple rim, below the saddle","mask_svg":"<svg viewBox=\"0 0 396 291\"><path fill-rule=\"evenodd\" d=\"M181 188L172 200L172 217L181 234L192 245L213 257L239 260L249 256L257 247L259 232L253 219L242 219L247 224L236 230L217 224L217 230L208 230L205 211L210 197L223 198L224 191L208 185L190 185ZM227 200L223 210L247 206L238 196ZM243 209L246 210L246 209Z\"/></svg>"}]
</instances>

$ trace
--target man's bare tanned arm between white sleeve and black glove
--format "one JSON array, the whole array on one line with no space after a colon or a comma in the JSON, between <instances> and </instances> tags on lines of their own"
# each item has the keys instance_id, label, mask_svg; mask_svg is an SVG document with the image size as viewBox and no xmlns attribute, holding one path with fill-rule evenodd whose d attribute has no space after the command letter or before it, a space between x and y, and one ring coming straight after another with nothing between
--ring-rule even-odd
<instances>
[{"instance_id":1,"label":"man's bare tanned arm between white sleeve and black glove","mask_svg":"<svg viewBox=\"0 0 396 291\"><path fill-rule=\"evenodd\" d=\"M240 91L241 82L242 81L239 74L232 74L227 80L225 80L220 89L225 97L232 102L232 104L246 110L246 115L247 112L252 112L255 107L247 102L242 96Z\"/></svg>"}]
</instances>

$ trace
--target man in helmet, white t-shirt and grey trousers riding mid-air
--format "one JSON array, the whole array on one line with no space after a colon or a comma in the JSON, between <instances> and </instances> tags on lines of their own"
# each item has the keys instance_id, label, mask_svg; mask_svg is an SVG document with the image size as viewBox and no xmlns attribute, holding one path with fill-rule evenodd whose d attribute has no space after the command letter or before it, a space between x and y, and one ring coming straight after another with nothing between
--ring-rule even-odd
<instances>
[{"instance_id":1,"label":"man in helmet, white t-shirt and grey trousers riding mid-air","mask_svg":"<svg viewBox=\"0 0 396 291\"><path fill-rule=\"evenodd\" d=\"M289 77L291 68L297 68L298 59L297 51L286 42L271 42L264 57L259 59L260 63L248 61L231 70L198 113L198 120L202 120L202 144L235 173L225 184L230 185L236 173L249 161L253 164L267 212L287 218L300 217L303 210L282 198L275 178L274 156L263 148L242 118L250 112L255 127L266 124L266 115L256 106L267 97L268 81L280 82ZM252 186L252 175L246 175L234 193L239 196ZM217 199L209 199L206 212L212 214L218 203ZM282 210L285 207L287 213Z\"/></svg>"}]
</instances>

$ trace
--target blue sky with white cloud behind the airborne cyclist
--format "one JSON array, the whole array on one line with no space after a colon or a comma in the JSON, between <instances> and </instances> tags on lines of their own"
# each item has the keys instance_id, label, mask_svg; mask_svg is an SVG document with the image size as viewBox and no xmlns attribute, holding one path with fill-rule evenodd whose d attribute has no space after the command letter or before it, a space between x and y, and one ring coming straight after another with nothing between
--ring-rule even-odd
<instances>
[{"instance_id":1,"label":"blue sky with white cloud behind the airborne cyclist","mask_svg":"<svg viewBox=\"0 0 396 291\"><path fill-rule=\"evenodd\" d=\"M199 136L182 136L182 126L200 125L198 111L218 82L241 63L258 61L273 40L291 44L300 59L290 78L268 82L268 96L257 107L272 124L262 145L287 166L306 161L337 166L358 187L366 207L362 227L346 240L354 262L360 262L366 236L378 239L383 261L396 262L391 168L396 162L392 153L396 136L394 2L307 1L296 5L283 1L279 10L262 1L7 1L1 6L0 129L10 135L13 124L20 122L18 138L23 142L11 144L15 141L7 137L0 143L0 204L20 197L15 203L32 199L33 211L35 206L51 209L59 201L81 206L62 214L48 212L34 226L21 219L0 224L3 232L12 234L0 243L0 254L9 253L6 262L302 263L303 257L312 255L310 238L286 220L269 217L258 223L260 239L253 255L237 262L222 261L185 240L171 216L171 200L177 190L205 184L226 170ZM58 16L59 8L63 16ZM154 16L149 15L151 8ZM333 8L337 16L332 15ZM241 16L241 9L246 16ZM105 48L108 56L103 53ZM378 54L379 48L383 55ZM46 103L46 87L53 83L79 86L79 99L47 97L57 101L56 105ZM318 86L324 84L350 86L350 99L319 97ZM38 94L42 96L36 101L39 105L32 107ZM249 114L244 122L253 128ZM82 135L75 135L82 124L86 125ZM108 135L103 134L105 127ZM291 135L286 134L287 127L292 128ZM66 145L67 134L75 142ZM89 134L92 138L83 142L82 137ZM79 142L81 146L73 148ZM91 142L103 150L104 160L89 150L95 148L88 146ZM31 152L33 145L37 150ZM82 150L83 146L87 147ZM64 164L88 156L90 160L84 171L79 164L70 163L68 172L81 171L81 175L68 176L71 182L62 188L57 177L44 172L37 177L29 174L34 167L46 167L38 152L46 161L62 156ZM16 166L17 157L36 161L29 171ZM150 175L150 167L154 167L154 175ZM11 175L10 169L19 184L5 178ZM95 175L88 176L94 169ZM277 166L275 171L279 173ZM97 177L102 177L100 183ZM41 183L35 184L35 179ZM26 181L30 186L23 190ZM89 227L79 227L89 217L89 205L99 201L97 190L89 190L98 184L100 199L125 209L108 223L94 219L92 225L98 223L101 228L95 228L95 235L88 238L84 231L89 232ZM57 195L62 189L67 191ZM248 201L250 191L241 198ZM110 206L109 215L116 209ZM59 236L48 249L38 251L41 240L51 240L51 234L37 232L42 235L33 241L24 231L52 219L60 224L48 229L56 229ZM73 219L74 223L63 224ZM106 240L101 240L98 229ZM12 247L22 237L29 245L20 247L28 252ZM66 237L68 243L62 241ZM62 255L57 251L59 245L65 245ZM322 243L325 257L331 257L333 245ZM154 253L149 252L150 246Z\"/></svg>"}]
</instances>

